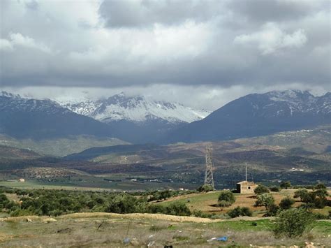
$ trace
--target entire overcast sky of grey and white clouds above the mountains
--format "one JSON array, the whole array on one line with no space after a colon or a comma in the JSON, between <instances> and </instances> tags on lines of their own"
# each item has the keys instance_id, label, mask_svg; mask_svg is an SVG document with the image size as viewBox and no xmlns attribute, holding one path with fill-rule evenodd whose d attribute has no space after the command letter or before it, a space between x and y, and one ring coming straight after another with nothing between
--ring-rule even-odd
<instances>
[{"instance_id":1,"label":"entire overcast sky of grey and white clouds above the mountains","mask_svg":"<svg viewBox=\"0 0 331 248\"><path fill-rule=\"evenodd\" d=\"M119 92L214 110L253 92L331 91L330 1L0 1L0 88Z\"/></svg>"}]
</instances>

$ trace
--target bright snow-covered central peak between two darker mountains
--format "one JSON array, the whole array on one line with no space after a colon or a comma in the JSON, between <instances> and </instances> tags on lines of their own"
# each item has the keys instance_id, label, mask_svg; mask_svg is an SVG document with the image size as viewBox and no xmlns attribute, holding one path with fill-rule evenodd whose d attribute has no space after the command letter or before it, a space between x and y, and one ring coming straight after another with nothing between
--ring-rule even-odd
<instances>
[{"instance_id":1,"label":"bright snow-covered central peak between two darker mountains","mask_svg":"<svg viewBox=\"0 0 331 248\"><path fill-rule=\"evenodd\" d=\"M101 122L126 120L143 123L161 119L172 124L194 122L209 115L207 110L194 110L180 103L153 101L144 96L126 96L123 92L108 99L87 100L79 103L60 102L65 108L87 115Z\"/></svg>"}]
</instances>

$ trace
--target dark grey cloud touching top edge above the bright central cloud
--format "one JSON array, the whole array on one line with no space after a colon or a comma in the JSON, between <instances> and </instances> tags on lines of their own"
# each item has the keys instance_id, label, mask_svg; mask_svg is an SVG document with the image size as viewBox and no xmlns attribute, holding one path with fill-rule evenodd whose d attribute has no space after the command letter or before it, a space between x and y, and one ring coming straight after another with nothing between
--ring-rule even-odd
<instances>
[{"instance_id":1,"label":"dark grey cloud touching top edge above the bright central cloud","mask_svg":"<svg viewBox=\"0 0 331 248\"><path fill-rule=\"evenodd\" d=\"M186 19L205 21L222 13L222 1L103 1L99 8L108 27L177 24Z\"/></svg>"}]
</instances>

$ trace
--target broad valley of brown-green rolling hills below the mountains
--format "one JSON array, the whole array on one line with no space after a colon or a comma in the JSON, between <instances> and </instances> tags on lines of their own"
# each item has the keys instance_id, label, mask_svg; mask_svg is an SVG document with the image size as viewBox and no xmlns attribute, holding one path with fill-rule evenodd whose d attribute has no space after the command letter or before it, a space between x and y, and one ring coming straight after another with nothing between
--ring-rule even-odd
<instances>
[{"instance_id":1,"label":"broad valley of brown-green rolling hills below the mountains","mask_svg":"<svg viewBox=\"0 0 331 248\"><path fill-rule=\"evenodd\" d=\"M331 127L320 126L309 131L213 142L215 187L233 189L236 182L244 179L246 165L249 180L254 182L329 184L330 136ZM204 180L207 144L113 144L62 157L15 148L10 148L13 155L9 155L8 147L3 146L0 148L6 156L0 159L0 185L24 187L27 183L6 182L24 177L26 182L41 187L196 189Z\"/></svg>"}]
</instances>

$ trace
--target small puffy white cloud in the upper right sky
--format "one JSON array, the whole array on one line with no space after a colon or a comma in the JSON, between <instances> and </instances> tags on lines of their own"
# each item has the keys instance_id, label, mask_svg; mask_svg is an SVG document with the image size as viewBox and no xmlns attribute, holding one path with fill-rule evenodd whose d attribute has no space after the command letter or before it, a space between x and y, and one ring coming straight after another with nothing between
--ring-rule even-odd
<instances>
[{"instance_id":1,"label":"small puffy white cloud in the upper right sky","mask_svg":"<svg viewBox=\"0 0 331 248\"><path fill-rule=\"evenodd\" d=\"M303 29L297 29L293 34L286 34L277 24L264 24L260 31L252 34L236 36L235 44L257 45L262 54L272 54L282 48L301 48L307 42Z\"/></svg>"}]
</instances>

